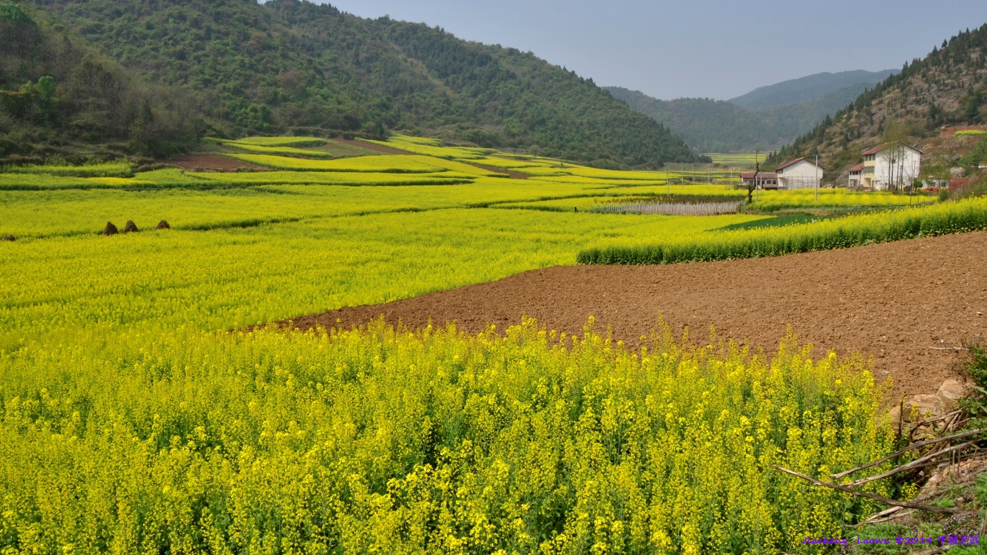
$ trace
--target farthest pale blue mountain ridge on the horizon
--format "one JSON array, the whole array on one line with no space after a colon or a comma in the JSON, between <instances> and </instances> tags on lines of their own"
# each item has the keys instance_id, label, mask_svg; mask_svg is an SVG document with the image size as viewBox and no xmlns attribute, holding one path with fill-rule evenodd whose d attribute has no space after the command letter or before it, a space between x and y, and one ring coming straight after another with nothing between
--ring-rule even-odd
<instances>
[{"instance_id":1,"label":"farthest pale blue mountain ridge on the horizon","mask_svg":"<svg viewBox=\"0 0 987 555\"><path fill-rule=\"evenodd\" d=\"M839 93L848 89L858 91L857 95L864 92L867 85L876 85L887 79L896 69L885 69L882 71L865 71L858 69L855 71L840 71L837 73L815 73L806 75L798 79L789 79L774 85L758 87L753 91L730 99L729 103L743 106L751 110L761 110L764 108L775 108L790 104L821 99L823 97ZM850 102L853 98L848 99ZM843 108L843 104L837 108Z\"/></svg>"}]
</instances>

